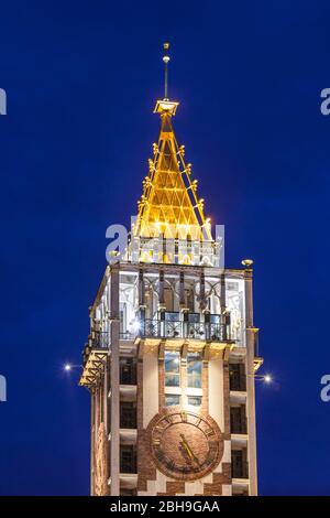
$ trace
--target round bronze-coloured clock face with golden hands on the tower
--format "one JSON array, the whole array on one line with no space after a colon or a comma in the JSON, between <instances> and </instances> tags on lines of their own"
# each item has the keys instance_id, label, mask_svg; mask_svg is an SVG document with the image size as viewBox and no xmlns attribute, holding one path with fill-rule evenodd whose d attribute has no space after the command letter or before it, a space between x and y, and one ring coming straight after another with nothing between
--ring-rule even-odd
<instances>
[{"instance_id":1,"label":"round bronze-coloured clock face with golden hands on the tower","mask_svg":"<svg viewBox=\"0 0 330 518\"><path fill-rule=\"evenodd\" d=\"M165 475L180 481L201 478L219 464L223 441L209 416L182 409L158 414L150 423L155 464Z\"/></svg>"}]
</instances>

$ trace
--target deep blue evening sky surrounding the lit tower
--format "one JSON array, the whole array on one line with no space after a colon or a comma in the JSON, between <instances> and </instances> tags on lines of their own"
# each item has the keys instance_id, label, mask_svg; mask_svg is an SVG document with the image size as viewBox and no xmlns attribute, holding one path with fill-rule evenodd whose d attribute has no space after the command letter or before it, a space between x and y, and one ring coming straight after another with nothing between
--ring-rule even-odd
<instances>
[{"instance_id":1,"label":"deep blue evening sky surrounding the lit tower","mask_svg":"<svg viewBox=\"0 0 330 518\"><path fill-rule=\"evenodd\" d=\"M328 3L328 7L327 7ZM329 2L7 1L0 12L0 494L89 490L80 361L105 233L135 214L157 139L161 45L175 128L227 266L255 261L260 492L329 494Z\"/></svg>"}]
</instances>

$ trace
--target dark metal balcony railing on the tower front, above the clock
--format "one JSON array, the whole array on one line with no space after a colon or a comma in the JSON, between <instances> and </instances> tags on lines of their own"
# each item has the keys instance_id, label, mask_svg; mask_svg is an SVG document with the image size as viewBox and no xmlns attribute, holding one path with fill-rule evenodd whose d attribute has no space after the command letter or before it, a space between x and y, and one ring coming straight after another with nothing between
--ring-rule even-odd
<instances>
[{"instance_id":1,"label":"dark metal balcony railing on the tower front, above the clock","mask_svg":"<svg viewBox=\"0 0 330 518\"><path fill-rule=\"evenodd\" d=\"M161 321L146 319L140 323L141 337L193 338L212 342L228 341L226 325L206 322Z\"/></svg>"}]
</instances>

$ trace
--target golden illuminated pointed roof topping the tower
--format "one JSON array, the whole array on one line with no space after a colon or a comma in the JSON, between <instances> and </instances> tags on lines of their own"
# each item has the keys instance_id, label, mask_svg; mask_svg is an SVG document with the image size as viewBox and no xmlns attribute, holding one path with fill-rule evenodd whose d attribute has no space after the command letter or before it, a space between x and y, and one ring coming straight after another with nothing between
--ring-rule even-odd
<instances>
[{"instance_id":1,"label":"golden illuminated pointed roof topping the tower","mask_svg":"<svg viewBox=\"0 0 330 518\"><path fill-rule=\"evenodd\" d=\"M172 125L178 102L156 102L161 115L158 143L153 144L150 174L143 181L134 236L212 239L204 199L197 197L197 180L191 181L191 164L185 162L185 147L178 145Z\"/></svg>"}]
</instances>

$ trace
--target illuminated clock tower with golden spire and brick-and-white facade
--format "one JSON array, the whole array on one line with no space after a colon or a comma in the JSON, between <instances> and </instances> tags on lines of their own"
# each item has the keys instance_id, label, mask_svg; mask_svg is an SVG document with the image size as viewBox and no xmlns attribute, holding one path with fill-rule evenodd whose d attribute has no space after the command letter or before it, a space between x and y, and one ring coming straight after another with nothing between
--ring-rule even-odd
<instances>
[{"instance_id":1,"label":"illuminated clock tower with golden spire and brick-and-white facade","mask_svg":"<svg viewBox=\"0 0 330 518\"><path fill-rule=\"evenodd\" d=\"M139 213L90 307L91 495L256 495L252 261L222 265L165 96ZM217 233L216 233L217 234Z\"/></svg>"}]
</instances>

